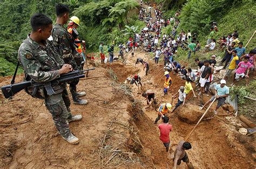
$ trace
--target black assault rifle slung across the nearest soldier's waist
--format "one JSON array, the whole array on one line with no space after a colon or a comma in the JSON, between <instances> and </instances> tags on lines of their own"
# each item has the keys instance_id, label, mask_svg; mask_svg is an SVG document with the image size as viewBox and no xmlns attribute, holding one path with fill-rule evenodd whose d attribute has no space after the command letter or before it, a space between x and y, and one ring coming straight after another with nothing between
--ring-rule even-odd
<instances>
[{"instance_id":1,"label":"black assault rifle slung across the nearest soldier's waist","mask_svg":"<svg viewBox=\"0 0 256 169\"><path fill-rule=\"evenodd\" d=\"M55 91L53 91L53 89L52 89L53 84L54 85L62 84L65 82L71 82L76 79L84 78L85 77L84 72L89 71L89 70L95 70L95 67L92 67L92 68L86 69L86 70L82 70L82 71L79 71L79 70L72 71L72 72L60 75L59 78L52 80L50 82L46 82L46 83L37 83L33 80L28 80L28 81L24 81L24 82L17 83L17 84L10 84L10 85L6 85L6 86L2 86L1 90L4 94L4 97L9 98L11 96L14 96L19 91L26 89L29 86L35 86L32 94L31 94L32 96L35 96L39 87L43 86L44 89L46 90L47 94L49 96L51 96L52 94L55 94Z\"/></svg>"}]
</instances>

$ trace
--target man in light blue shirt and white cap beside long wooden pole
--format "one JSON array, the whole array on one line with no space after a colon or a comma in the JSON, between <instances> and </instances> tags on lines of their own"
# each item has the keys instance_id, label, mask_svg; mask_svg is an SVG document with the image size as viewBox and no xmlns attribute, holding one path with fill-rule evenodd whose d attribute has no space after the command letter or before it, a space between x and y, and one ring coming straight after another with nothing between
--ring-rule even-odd
<instances>
[{"instance_id":1,"label":"man in light blue shirt and white cap beside long wooden pole","mask_svg":"<svg viewBox=\"0 0 256 169\"><path fill-rule=\"evenodd\" d=\"M218 100L218 104L214 110L214 114L217 114L217 110L220 106L223 106L225 104L226 97L229 93L230 89L226 86L226 80L220 80L220 84L217 84L215 87L215 95L212 96L212 98L208 102L206 102L203 107L200 107L199 110L203 110L206 105L213 102L214 98L217 98L216 100Z\"/></svg>"}]
</instances>

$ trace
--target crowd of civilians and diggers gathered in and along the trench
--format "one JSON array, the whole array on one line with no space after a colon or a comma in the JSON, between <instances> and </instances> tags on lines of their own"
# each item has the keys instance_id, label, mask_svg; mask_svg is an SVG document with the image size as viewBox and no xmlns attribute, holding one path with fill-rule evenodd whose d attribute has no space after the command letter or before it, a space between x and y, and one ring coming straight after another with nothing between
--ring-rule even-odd
<instances>
[{"instance_id":1,"label":"crowd of civilians and diggers gathered in and along the trench","mask_svg":"<svg viewBox=\"0 0 256 169\"><path fill-rule=\"evenodd\" d=\"M154 11L153 11L154 10ZM152 15L154 12L154 18ZM168 123L169 118L166 116L168 112L173 113L179 106L183 106L186 101L186 96L190 91L193 92L193 96L196 96L196 92L192 87L192 83L195 83L196 86L199 86L198 95L201 96L205 94L209 96L211 90L210 85L214 80L214 67L223 66L223 69L227 68L226 75L223 79L220 80L220 84L213 86L214 92L205 105L199 107L199 110L203 110L211 102L218 101L217 106L215 106L214 114L218 114L219 107L225 104L225 100L229 95L229 87L226 85L226 80L228 77L232 76L232 71L235 70L233 76L233 83L239 79L246 79L246 85L249 83L249 73L250 70L254 70L255 67L255 49L251 50L246 54L246 49L243 46L244 44L240 42L238 38L238 32L234 31L231 35L228 35L215 39L215 33L218 32L217 23L213 22L211 24L210 35L208 36L205 48L203 52L217 50L224 50L225 55L221 62L217 64L215 60L216 56L212 55L210 59L199 60L196 58L194 61L198 65L197 70L192 70L191 68L186 69L185 65L181 65L177 60L174 60L173 55L177 52L178 48L182 48L188 51L187 60L191 58L191 53L196 53L201 50L201 44L198 40L197 33L192 33L190 30L181 30L180 33L177 33L177 28L179 26L179 11L175 14L174 17L163 19L163 13L156 7L152 8L151 6L148 9L142 8L139 11L139 19L146 23L146 27L139 33L134 35L134 43L137 43L138 46L142 45L145 52L154 52L154 62L159 63L160 58L163 56L164 60L164 96L168 94L168 90L172 86L172 78L170 72L173 71L174 74L179 75L181 78L186 79L184 86L180 86L180 89L172 96L172 99L178 97L178 102L175 106L172 106L170 103L160 104L157 112L158 116L154 123L156 124L162 117L163 123L158 127L160 129L160 140L163 141L163 144L166 148L166 151L169 150L170 139L169 133L172 130L172 125ZM172 31L168 32L167 35L162 33L161 30L169 25L173 25ZM130 39L130 43L132 40ZM219 46L218 46L219 45ZM140 60L140 61L139 61ZM146 62L142 58L138 58L137 62L145 64ZM148 65L148 63L146 63ZM147 75L147 73L146 73ZM138 75L134 76L137 78ZM142 78L137 78L138 83L141 84ZM132 84L132 83L131 83ZM156 103L156 94L153 90L147 90L144 92L143 97L147 100L147 108L154 103ZM156 107L155 107L156 108ZM189 162L185 150L191 147L190 143L185 141L180 141L176 151L174 152L174 166L180 164L180 161L183 160L189 168L193 168L192 164ZM177 151L181 148L183 150L182 156L177 156Z\"/></svg>"}]
</instances>

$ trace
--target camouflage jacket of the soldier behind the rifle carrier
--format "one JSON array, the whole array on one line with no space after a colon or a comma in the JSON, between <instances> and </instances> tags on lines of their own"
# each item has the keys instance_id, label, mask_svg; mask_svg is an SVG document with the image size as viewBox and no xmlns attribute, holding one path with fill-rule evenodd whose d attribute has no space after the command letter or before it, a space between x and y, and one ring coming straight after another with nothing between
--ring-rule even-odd
<instances>
[{"instance_id":1,"label":"camouflage jacket of the soldier behind the rifle carrier","mask_svg":"<svg viewBox=\"0 0 256 169\"><path fill-rule=\"evenodd\" d=\"M78 70L81 56L76 51L74 40L63 25L55 24L52 29L53 43L59 51L60 56L67 64L71 64L73 69Z\"/></svg>"}]
</instances>

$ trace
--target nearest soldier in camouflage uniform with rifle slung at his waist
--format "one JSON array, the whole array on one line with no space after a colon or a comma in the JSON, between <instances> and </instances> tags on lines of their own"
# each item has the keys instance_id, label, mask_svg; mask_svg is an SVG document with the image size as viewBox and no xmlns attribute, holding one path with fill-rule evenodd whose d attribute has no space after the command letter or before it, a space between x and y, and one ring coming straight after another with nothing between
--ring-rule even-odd
<instances>
[{"instance_id":1,"label":"nearest soldier in camouflage uniform with rifle slung at his waist","mask_svg":"<svg viewBox=\"0 0 256 169\"><path fill-rule=\"evenodd\" d=\"M31 17L30 24L32 33L22 42L18 51L26 80L32 79L38 83L47 83L72 71L72 66L64 64L63 59L53 48L53 44L47 40L52 30L51 19L44 14L37 13ZM69 121L80 120L83 117L71 114L70 99L65 83L52 84L52 89L55 94L51 96L44 88L38 89L36 97L44 98L45 106L52 114L53 123L60 135L69 143L77 144L79 140L70 132Z\"/></svg>"}]
</instances>

